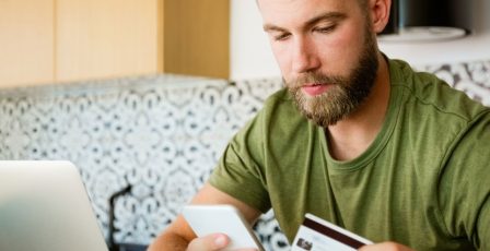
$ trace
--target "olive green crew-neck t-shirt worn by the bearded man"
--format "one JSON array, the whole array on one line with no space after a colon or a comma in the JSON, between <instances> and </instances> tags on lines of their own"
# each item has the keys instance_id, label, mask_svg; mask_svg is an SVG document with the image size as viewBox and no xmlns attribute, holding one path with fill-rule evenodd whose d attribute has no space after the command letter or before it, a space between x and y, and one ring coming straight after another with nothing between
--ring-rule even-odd
<instances>
[{"instance_id":1,"label":"olive green crew-neck t-shirt worn by the bearded man","mask_svg":"<svg viewBox=\"0 0 490 251\"><path fill-rule=\"evenodd\" d=\"M390 60L390 97L370 147L349 162L284 89L230 142L210 183L261 212L292 242L312 213L374 242L490 250L490 110Z\"/></svg>"}]
</instances>

